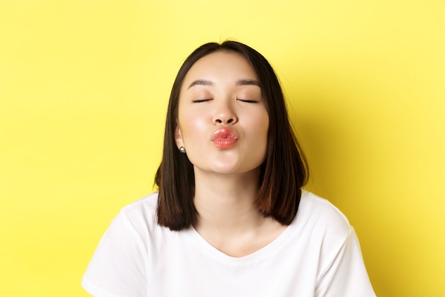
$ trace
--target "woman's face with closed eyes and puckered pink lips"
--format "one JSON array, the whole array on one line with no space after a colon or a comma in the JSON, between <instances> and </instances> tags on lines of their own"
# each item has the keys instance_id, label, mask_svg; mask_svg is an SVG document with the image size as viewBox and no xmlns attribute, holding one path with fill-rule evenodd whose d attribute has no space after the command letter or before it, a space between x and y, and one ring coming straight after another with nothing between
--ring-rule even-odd
<instances>
[{"instance_id":1,"label":"woman's face with closed eyes and puckered pink lips","mask_svg":"<svg viewBox=\"0 0 445 297\"><path fill-rule=\"evenodd\" d=\"M195 172L257 170L267 152L267 113L258 78L239 53L200 58L181 86L176 145Z\"/></svg>"}]
</instances>

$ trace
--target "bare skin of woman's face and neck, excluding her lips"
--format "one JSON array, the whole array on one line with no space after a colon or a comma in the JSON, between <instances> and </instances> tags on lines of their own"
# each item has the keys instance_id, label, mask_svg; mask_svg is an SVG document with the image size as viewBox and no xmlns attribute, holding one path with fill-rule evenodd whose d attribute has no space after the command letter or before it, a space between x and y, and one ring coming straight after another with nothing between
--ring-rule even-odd
<instances>
[{"instance_id":1,"label":"bare skin of woman's face and neck, excluding her lips","mask_svg":"<svg viewBox=\"0 0 445 297\"><path fill-rule=\"evenodd\" d=\"M226 51L197 61L181 86L177 122L176 145L186 148L195 171L198 233L237 257L273 241L285 226L262 217L253 205L269 115L250 63ZM213 141L221 129L236 138L228 147Z\"/></svg>"}]
</instances>

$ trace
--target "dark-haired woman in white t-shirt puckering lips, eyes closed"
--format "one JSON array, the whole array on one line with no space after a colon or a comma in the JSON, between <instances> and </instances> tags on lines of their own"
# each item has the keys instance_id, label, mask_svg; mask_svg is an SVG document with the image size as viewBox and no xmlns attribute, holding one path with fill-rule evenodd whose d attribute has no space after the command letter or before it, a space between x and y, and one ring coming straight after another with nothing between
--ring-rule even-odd
<instances>
[{"instance_id":1,"label":"dark-haired woman in white t-shirt puckering lips, eyes closed","mask_svg":"<svg viewBox=\"0 0 445 297\"><path fill-rule=\"evenodd\" d=\"M159 192L122 209L82 286L116 296L375 296L358 239L301 190L307 166L267 60L207 43L168 105Z\"/></svg>"}]
</instances>

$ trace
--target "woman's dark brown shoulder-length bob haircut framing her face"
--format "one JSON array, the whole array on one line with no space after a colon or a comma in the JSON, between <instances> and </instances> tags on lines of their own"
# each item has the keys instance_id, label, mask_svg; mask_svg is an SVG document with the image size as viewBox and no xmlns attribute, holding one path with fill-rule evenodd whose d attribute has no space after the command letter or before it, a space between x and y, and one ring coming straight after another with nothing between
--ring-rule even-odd
<instances>
[{"instance_id":1,"label":"woman's dark brown shoulder-length bob haircut framing her face","mask_svg":"<svg viewBox=\"0 0 445 297\"><path fill-rule=\"evenodd\" d=\"M158 224L179 231L198 222L199 214L193 203L193 165L187 155L176 147L174 133L179 93L186 74L200 58L218 51L239 53L257 74L269 113L269 132L267 153L260 165L259 189L254 204L264 217L272 217L281 224L289 225L299 207L301 187L308 179L306 157L289 123L282 88L272 66L260 53L237 41L205 43L186 58L176 75L166 115L163 157L155 177L155 184L159 187Z\"/></svg>"}]
</instances>

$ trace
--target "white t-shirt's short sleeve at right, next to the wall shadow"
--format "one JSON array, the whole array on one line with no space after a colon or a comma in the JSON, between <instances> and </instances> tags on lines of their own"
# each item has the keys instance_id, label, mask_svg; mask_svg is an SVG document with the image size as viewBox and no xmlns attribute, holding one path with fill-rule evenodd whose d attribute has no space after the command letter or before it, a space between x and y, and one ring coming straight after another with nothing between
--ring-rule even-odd
<instances>
[{"instance_id":1,"label":"white t-shirt's short sleeve at right, next to the wall shadow","mask_svg":"<svg viewBox=\"0 0 445 297\"><path fill-rule=\"evenodd\" d=\"M317 297L375 297L363 263L360 244L350 227L343 245L318 279Z\"/></svg>"}]
</instances>

